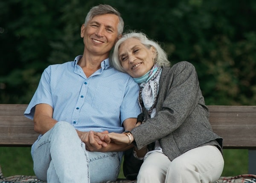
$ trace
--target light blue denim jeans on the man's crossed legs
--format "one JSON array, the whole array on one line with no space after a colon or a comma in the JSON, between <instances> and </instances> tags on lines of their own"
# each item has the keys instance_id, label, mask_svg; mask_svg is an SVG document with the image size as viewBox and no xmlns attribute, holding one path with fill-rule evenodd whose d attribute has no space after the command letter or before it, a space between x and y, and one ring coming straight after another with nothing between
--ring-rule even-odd
<instances>
[{"instance_id":1,"label":"light blue denim jeans on the man's crossed legs","mask_svg":"<svg viewBox=\"0 0 256 183\"><path fill-rule=\"evenodd\" d=\"M33 144L34 172L47 183L101 183L119 175L120 152L90 152L75 128L59 121Z\"/></svg>"}]
</instances>

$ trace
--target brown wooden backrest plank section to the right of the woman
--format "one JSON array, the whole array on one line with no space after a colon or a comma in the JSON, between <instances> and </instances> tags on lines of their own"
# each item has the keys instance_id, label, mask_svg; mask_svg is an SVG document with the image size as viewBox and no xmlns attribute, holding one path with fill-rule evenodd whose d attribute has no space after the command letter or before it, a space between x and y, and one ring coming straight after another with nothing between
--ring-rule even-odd
<instances>
[{"instance_id":1,"label":"brown wooden backrest plank section to the right of the woman","mask_svg":"<svg viewBox=\"0 0 256 183\"><path fill-rule=\"evenodd\" d=\"M256 149L256 106L208 106L212 130L225 148Z\"/></svg>"}]
</instances>

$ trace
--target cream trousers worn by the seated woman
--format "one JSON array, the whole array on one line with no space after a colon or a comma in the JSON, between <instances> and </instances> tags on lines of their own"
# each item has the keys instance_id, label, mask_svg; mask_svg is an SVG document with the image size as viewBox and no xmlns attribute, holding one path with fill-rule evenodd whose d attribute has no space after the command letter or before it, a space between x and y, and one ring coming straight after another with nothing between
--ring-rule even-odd
<instances>
[{"instance_id":1,"label":"cream trousers worn by the seated woman","mask_svg":"<svg viewBox=\"0 0 256 183\"><path fill-rule=\"evenodd\" d=\"M201 146L170 161L159 152L143 162L137 183L214 183L221 176L224 160L216 146Z\"/></svg>"}]
</instances>

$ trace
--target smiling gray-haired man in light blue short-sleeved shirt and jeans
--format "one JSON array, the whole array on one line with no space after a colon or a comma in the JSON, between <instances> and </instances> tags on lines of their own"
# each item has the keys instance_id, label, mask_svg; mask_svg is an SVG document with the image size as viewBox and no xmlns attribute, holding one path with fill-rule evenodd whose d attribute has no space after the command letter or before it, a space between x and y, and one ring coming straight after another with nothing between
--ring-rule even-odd
<instances>
[{"instance_id":1,"label":"smiling gray-haired man in light blue short-sleeved shirt and jeans","mask_svg":"<svg viewBox=\"0 0 256 183\"><path fill-rule=\"evenodd\" d=\"M40 135L32 146L35 175L48 183L99 183L116 180L122 151L95 132L131 130L140 114L139 86L111 67L109 53L122 36L116 9L90 9L81 26L84 53L73 62L44 70L25 116ZM100 173L99 173L100 172Z\"/></svg>"}]
</instances>

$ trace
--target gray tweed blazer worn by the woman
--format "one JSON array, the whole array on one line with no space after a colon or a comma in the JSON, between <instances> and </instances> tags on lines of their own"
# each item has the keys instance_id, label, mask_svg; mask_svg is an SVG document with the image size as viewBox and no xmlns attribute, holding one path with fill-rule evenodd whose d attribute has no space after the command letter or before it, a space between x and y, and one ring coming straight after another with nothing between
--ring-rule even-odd
<instances>
[{"instance_id":1,"label":"gray tweed blazer worn by the woman","mask_svg":"<svg viewBox=\"0 0 256 183\"><path fill-rule=\"evenodd\" d=\"M222 152L222 138L212 131L197 72L189 62L163 68L156 115L144 113L145 123L131 130L138 149L159 140L170 160L204 145L216 145Z\"/></svg>"}]
</instances>

